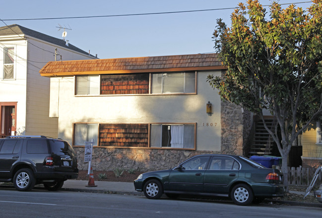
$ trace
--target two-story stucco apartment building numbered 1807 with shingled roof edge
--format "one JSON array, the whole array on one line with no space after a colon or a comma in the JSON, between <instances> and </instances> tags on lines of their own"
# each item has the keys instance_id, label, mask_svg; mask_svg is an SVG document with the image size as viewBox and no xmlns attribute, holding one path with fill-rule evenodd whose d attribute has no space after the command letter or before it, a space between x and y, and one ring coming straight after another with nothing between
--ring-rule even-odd
<instances>
[{"instance_id":1,"label":"two-story stucco apartment building numbered 1807 with shingled roof edge","mask_svg":"<svg viewBox=\"0 0 322 218\"><path fill-rule=\"evenodd\" d=\"M84 164L140 170L169 168L195 154L243 154L251 114L223 103L206 81L225 68L217 54L52 61L50 116Z\"/></svg>"}]
</instances>

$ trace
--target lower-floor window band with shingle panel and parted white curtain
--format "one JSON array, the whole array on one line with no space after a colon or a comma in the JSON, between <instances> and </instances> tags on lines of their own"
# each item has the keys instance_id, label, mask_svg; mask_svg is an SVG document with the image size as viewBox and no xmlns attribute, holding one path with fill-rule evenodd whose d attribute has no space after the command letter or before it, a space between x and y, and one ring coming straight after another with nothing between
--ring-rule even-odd
<instances>
[{"instance_id":1,"label":"lower-floor window band with shingle panel and parted white curtain","mask_svg":"<svg viewBox=\"0 0 322 218\"><path fill-rule=\"evenodd\" d=\"M194 149L195 124L74 124L73 145L91 140L102 147Z\"/></svg>"}]
</instances>

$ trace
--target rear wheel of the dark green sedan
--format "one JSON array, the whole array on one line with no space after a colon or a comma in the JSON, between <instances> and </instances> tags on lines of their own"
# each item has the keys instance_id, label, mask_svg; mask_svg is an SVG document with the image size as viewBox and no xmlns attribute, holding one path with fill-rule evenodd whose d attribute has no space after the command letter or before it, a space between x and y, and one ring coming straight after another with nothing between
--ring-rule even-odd
<instances>
[{"instance_id":1,"label":"rear wheel of the dark green sedan","mask_svg":"<svg viewBox=\"0 0 322 218\"><path fill-rule=\"evenodd\" d=\"M230 196L235 204L242 206L251 204L254 199L252 189L246 184L235 185Z\"/></svg>"}]
</instances>

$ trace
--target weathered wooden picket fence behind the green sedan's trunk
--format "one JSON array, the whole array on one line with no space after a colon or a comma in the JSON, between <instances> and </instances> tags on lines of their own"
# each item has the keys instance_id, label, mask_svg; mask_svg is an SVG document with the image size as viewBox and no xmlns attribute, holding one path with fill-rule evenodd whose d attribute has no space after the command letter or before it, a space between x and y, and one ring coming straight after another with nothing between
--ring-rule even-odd
<instances>
[{"instance_id":1,"label":"weathered wooden picket fence behind the green sedan's trunk","mask_svg":"<svg viewBox=\"0 0 322 218\"><path fill-rule=\"evenodd\" d=\"M279 166L276 166L277 169L280 169ZM288 168L288 181L289 185L292 186L305 186L308 187L315 175L316 168L313 167L289 167ZM315 187L319 187L322 183L322 173L320 172L316 182ZM284 175L285 176L285 175Z\"/></svg>"}]
</instances>

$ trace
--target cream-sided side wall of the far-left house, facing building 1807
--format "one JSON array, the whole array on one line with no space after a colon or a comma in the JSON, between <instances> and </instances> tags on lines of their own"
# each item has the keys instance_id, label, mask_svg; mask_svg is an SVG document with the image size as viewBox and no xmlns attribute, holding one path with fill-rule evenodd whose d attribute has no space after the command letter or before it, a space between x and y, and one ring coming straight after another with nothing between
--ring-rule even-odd
<instances>
[{"instance_id":1,"label":"cream-sided side wall of the far-left house, facing building 1807","mask_svg":"<svg viewBox=\"0 0 322 218\"><path fill-rule=\"evenodd\" d=\"M58 119L49 116L50 78L39 74L39 70L48 61L55 60L55 48L58 48L58 53L62 55L63 60L90 58L85 54L71 52L55 45L28 39L28 60L37 62L30 61L31 64L27 66L26 135L58 136ZM57 58L60 60L60 56Z\"/></svg>"}]
</instances>

